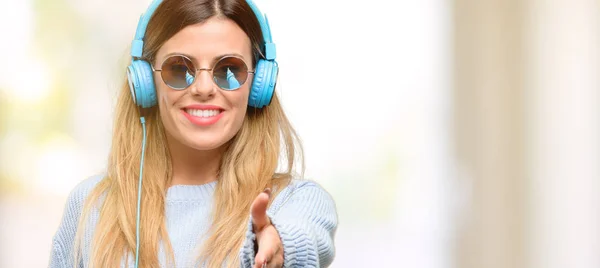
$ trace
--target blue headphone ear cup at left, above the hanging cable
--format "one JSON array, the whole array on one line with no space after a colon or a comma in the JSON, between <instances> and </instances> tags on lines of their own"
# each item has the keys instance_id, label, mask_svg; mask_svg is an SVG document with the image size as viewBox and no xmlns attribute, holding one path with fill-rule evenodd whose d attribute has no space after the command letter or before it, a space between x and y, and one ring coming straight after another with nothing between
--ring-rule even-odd
<instances>
[{"instance_id":1,"label":"blue headphone ear cup at left, above the hanging cable","mask_svg":"<svg viewBox=\"0 0 600 268\"><path fill-rule=\"evenodd\" d=\"M135 60L127 67L129 89L135 103L141 108L150 108L156 105L156 88L150 63Z\"/></svg>"}]
</instances>

